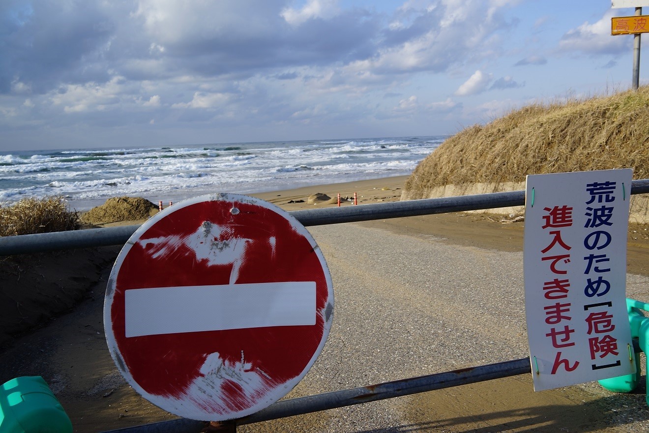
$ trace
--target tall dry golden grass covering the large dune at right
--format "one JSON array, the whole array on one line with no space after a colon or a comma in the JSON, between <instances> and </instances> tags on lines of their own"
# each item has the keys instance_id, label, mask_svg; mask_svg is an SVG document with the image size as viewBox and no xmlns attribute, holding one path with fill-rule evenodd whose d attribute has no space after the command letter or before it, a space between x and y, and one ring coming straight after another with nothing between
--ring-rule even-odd
<instances>
[{"instance_id":1,"label":"tall dry golden grass covering the large dune at right","mask_svg":"<svg viewBox=\"0 0 649 433\"><path fill-rule=\"evenodd\" d=\"M408 199L476 183L502 191L528 174L632 167L649 178L649 86L584 101L535 104L448 138L406 182Z\"/></svg>"}]
</instances>

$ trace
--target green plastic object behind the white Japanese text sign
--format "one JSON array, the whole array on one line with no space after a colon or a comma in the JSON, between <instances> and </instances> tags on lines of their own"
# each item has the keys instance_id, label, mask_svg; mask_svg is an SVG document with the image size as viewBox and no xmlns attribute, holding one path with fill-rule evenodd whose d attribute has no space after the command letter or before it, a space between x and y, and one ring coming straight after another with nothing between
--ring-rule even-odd
<instances>
[{"instance_id":1,"label":"green plastic object behind the white Japanese text sign","mask_svg":"<svg viewBox=\"0 0 649 433\"><path fill-rule=\"evenodd\" d=\"M649 317L645 317L641 310L649 312L649 304L635 299L626 299L626 312L629 315L631 325L631 338L637 338L640 343L640 350L647 354L649 351ZM649 364L649 360L646 360ZM606 390L613 392L631 392L635 390L640 382L640 356L635 353L635 373L632 375L618 376L610 379L598 380ZM649 390L649 376L647 377L647 389ZM646 397L649 405L649 396Z\"/></svg>"}]
</instances>

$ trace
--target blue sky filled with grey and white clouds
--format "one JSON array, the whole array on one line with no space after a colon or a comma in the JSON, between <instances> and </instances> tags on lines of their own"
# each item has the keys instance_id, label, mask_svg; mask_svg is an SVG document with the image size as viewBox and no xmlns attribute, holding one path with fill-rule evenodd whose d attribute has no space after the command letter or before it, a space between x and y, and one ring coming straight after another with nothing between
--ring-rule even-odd
<instances>
[{"instance_id":1,"label":"blue sky filled with grey and white clouds","mask_svg":"<svg viewBox=\"0 0 649 433\"><path fill-rule=\"evenodd\" d=\"M0 151L454 134L628 90L633 36L611 36L611 17L633 13L610 0L2 0Z\"/></svg>"}]
</instances>

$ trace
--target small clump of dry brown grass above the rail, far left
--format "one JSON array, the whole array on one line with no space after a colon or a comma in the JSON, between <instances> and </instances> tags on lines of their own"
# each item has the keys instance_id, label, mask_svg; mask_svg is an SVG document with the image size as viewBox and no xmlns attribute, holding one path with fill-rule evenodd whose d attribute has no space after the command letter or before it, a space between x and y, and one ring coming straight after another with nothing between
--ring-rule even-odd
<instances>
[{"instance_id":1,"label":"small clump of dry brown grass above the rail, far left","mask_svg":"<svg viewBox=\"0 0 649 433\"><path fill-rule=\"evenodd\" d=\"M0 236L80 229L79 214L67 210L63 197L22 199L0 204Z\"/></svg>"}]
</instances>

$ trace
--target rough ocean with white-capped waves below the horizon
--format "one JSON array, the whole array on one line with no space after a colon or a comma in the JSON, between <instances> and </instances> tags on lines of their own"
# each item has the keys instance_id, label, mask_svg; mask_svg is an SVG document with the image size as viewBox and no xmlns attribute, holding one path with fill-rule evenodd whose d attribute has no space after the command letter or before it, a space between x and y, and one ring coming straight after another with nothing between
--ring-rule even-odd
<instances>
[{"instance_id":1,"label":"rough ocean with white-capped waves below the horizon","mask_svg":"<svg viewBox=\"0 0 649 433\"><path fill-rule=\"evenodd\" d=\"M73 210L110 197L153 203L408 175L446 136L0 152L0 203L60 195Z\"/></svg>"}]
</instances>

